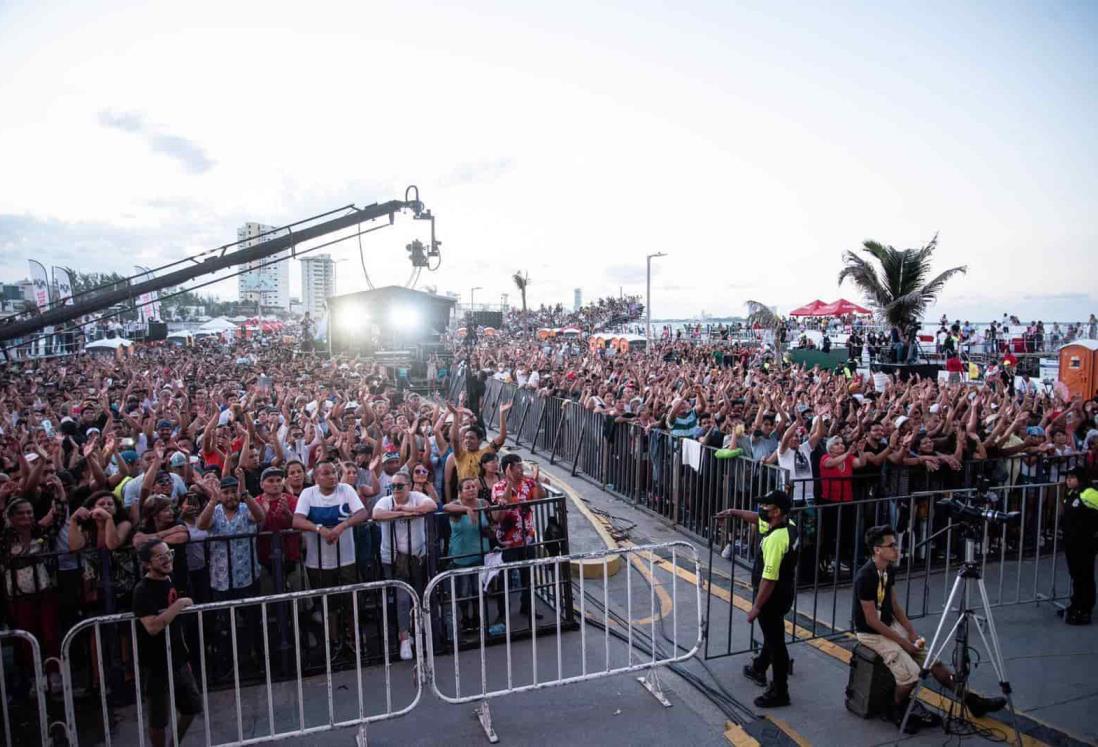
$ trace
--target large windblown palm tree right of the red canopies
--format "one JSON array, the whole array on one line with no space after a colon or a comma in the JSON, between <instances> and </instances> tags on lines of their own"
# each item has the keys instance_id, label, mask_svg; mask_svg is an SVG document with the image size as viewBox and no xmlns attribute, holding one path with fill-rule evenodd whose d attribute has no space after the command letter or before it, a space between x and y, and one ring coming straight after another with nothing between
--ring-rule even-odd
<instances>
[{"instance_id":1,"label":"large windblown palm tree right of the red canopies","mask_svg":"<svg viewBox=\"0 0 1098 747\"><path fill-rule=\"evenodd\" d=\"M946 280L968 271L964 266L951 267L928 281L930 257L937 248L938 234L920 249L895 249L874 241L863 242L861 250L876 259L876 264L847 252L839 285L849 278L882 321L907 328L922 319Z\"/></svg>"}]
</instances>

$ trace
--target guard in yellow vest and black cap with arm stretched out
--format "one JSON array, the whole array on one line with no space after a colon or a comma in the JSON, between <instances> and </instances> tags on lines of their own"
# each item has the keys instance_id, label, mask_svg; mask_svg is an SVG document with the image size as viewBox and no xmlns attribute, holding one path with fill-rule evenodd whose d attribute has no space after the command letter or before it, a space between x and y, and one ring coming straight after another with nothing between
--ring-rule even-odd
<instances>
[{"instance_id":1,"label":"guard in yellow vest and black cap with arm stretched out","mask_svg":"<svg viewBox=\"0 0 1098 747\"><path fill-rule=\"evenodd\" d=\"M796 594L794 575L800 540L797 527L789 521L793 501L781 490L772 490L759 499L759 511L727 509L718 519L735 517L752 522L761 539L755 554L751 583L754 604L748 612L748 622L759 622L762 631L762 651L743 668L743 676L765 687L766 669L773 668L770 688L754 703L759 707L789 704L789 653L785 647L785 613L793 606Z\"/></svg>"}]
</instances>

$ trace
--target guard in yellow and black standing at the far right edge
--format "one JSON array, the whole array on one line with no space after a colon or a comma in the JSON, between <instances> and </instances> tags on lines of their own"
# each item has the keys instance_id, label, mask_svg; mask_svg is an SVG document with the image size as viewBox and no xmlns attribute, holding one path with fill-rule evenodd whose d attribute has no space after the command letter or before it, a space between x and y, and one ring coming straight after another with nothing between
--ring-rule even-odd
<instances>
[{"instance_id":1,"label":"guard in yellow and black standing at the far right edge","mask_svg":"<svg viewBox=\"0 0 1098 747\"><path fill-rule=\"evenodd\" d=\"M1089 625L1095 609L1095 557L1098 556L1098 490L1087 470L1067 472L1064 492L1064 556L1072 575L1072 603L1064 612L1068 625Z\"/></svg>"}]
</instances>

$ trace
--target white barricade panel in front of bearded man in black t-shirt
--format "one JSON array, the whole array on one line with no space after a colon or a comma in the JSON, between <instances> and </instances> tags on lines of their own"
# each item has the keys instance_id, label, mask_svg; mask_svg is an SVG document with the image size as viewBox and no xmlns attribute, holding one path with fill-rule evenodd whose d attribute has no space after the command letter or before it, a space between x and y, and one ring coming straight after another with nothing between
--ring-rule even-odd
<instances>
[{"instance_id":1,"label":"white barricade panel in front of bearded man in black t-shirt","mask_svg":"<svg viewBox=\"0 0 1098 747\"><path fill-rule=\"evenodd\" d=\"M280 609L289 612L291 621L289 651L277 650L272 631L272 621ZM408 622L399 622L404 615ZM367 618L377 621L376 635L368 633ZM150 688L167 689L168 726L176 734L183 716L172 703L178 702L178 694L190 690L191 678L201 698L201 711L206 714L199 716L202 723L193 728L202 729L208 745L274 742L401 716L415 707L423 689L418 677L394 676L394 668L400 666L394 662L400 646L397 626L406 624L413 636L411 672L423 660L419 621L418 594L408 583L396 579L195 605L164 631L167 660L163 677L149 662L141 660L142 623L134 615L82 621L68 632L61 644L65 718L70 744L85 739L107 745L114 742L144 745L148 706L142 693L147 694ZM343 642L345 648L337 640L347 631L332 627L339 623L350 626L351 634L345 636L350 639ZM177 626L182 628L184 642L197 643L181 664L173 662L171 651L170 632ZM329 635L333 629L336 639ZM100 707L94 717L88 718L81 712L78 718L72 694L74 661L87 653L91 656L92 674L100 683L109 679L107 656L125 659L126 677L110 688L111 702L109 688L99 688ZM322 660L320 673L307 673L310 659ZM373 660L377 666L369 666ZM333 694L344 688L356 698L341 699L337 707ZM134 703L133 717L113 723L111 713L127 709L120 705L127 693ZM403 703L399 695L403 696ZM326 706L326 711L317 714L317 704Z\"/></svg>"}]
</instances>

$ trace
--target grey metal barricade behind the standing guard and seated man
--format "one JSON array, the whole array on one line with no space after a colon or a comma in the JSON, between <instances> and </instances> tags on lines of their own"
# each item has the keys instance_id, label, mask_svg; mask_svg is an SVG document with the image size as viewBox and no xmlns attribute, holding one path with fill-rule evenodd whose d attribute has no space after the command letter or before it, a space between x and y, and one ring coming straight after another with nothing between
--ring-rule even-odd
<instances>
[{"instance_id":1,"label":"grey metal barricade behind the standing guard and seated man","mask_svg":"<svg viewBox=\"0 0 1098 747\"><path fill-rule=\"evenodd\" d=\"M1017 525L984 523L977 560L993 606L1051 603L1060 605L1068 594L1067 576L1060 548L1060 494L1056 483L1023 484L993 490L996 510L1018 511ZM900 560L895 569L896 592L911 618L943 612L954 577L963 561L964 542L957 520L940 501L967 499L971 489L945 490L870 500L797 504L791 521L800 543L796 566L797 593L788 620L789 640L809 640L853 629L853 578L870 559L863 537L870 526L889 524L897 532ZM729 593L739 588L750 594L750 576L738 569L754 557L758 534L744 522L714 522L709 544L708 637L706 658L753 650L759 642L748 629ZM722 562L724 529L731 557ZM727 592L727 593L726 593ZM740 611L742 613L742 611ZM735 620L733 620L735 615Z\"/></svg>"}]
</instances>

